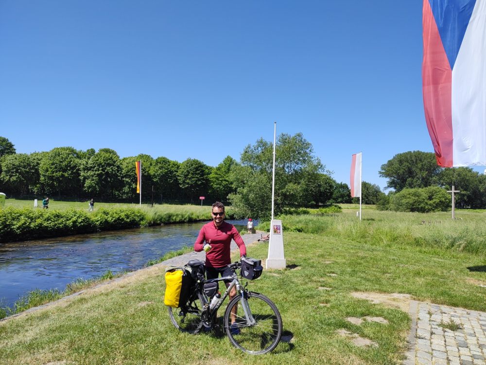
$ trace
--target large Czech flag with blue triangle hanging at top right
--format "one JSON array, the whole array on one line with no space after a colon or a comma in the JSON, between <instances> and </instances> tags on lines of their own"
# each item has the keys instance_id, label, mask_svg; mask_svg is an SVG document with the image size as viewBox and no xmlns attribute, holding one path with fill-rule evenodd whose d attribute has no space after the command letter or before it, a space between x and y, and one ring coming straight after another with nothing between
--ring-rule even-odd
<instances>
[{"instance_id":1,"label":"large Czech flag with blue triangle hanging at top right","mask_svg":"<svg viewBox=\"0 0 486 365\"><path fill-rule=\"evenodd\" d=\"M437 164L486 165L486 0L424 0L422 84Z\"/></svg>"}]
</instances>

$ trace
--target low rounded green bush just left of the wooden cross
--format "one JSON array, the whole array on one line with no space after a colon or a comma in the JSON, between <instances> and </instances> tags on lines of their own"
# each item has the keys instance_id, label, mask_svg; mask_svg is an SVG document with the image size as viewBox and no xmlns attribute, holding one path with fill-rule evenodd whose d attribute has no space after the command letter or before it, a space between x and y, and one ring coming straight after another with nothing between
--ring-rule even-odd
<instances>
[{"instance_id":1,"label":"low rounded green bush just left of the wooden cross","mask_svg":"<svg viewBox=\"0 0 486 365\"><path fill-rule=\"evenodd\" d=\"M438 186L403 189L390 197L390 210L397 212L439 212L447 211L451 197Z\"/></svg>"}]
</instances>

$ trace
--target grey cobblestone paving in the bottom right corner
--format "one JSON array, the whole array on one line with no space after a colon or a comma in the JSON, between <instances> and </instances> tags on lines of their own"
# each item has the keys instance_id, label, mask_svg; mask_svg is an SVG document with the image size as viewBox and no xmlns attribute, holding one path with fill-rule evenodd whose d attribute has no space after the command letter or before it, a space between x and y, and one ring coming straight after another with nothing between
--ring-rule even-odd
<instances>
[{"instance_id":1,"label":"grey cobblestone paving in the bottom right corner","mask_svg":"<svg viewBox=\"0 0 486 365\"><path fill-rule=\"evenodd\" d=\"M404 365L486 365L486 313L412 301Z\"/></svg>"}]
</instances>

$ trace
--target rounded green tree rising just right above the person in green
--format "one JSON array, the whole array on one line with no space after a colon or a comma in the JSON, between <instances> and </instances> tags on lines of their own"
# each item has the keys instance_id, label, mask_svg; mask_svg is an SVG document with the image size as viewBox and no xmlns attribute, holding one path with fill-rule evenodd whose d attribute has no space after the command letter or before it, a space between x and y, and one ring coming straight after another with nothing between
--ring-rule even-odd
<instances>
[{"instance_id":1,"label":"rounded green tree rising just right above the person in green","mask_svg":"<svg viewBox=\"0 0 486 365\"><path fill-rule=\"evenodd\" d=\"M45 193L59 197L79 195L81 152L72 147L52 148L40 162L40 182Z\"/></svg>"}]
</instances>

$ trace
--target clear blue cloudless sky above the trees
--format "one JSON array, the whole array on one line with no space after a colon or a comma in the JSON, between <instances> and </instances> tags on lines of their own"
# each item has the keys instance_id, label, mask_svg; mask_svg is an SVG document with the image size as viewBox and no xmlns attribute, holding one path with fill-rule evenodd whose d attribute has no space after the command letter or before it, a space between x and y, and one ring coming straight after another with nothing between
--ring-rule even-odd
<instances>
[{"instance_id":1,"label":"clear blue cloudless sky above the trees","mask_svg":"<svg viewBox=\"0 0 486 365\"><path fill-rule=\"evenodd\" d=\"M422 1L0 0L0 135L215 166L302 132L349 184L433 152ZM483 168L476 168L483 171Z\"/></svg>"}]
</instances>

